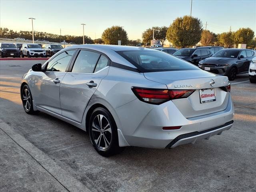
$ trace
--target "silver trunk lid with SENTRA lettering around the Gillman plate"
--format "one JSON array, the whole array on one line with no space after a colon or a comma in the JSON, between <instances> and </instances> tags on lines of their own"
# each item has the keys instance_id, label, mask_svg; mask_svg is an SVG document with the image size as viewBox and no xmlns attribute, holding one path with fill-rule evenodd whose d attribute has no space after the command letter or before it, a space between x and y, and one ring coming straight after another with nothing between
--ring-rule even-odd
<instances>
[{"instance_id":1,"label":"silver trunk lid with SENTRA lettering around the Gillman plate","mask_svg":"<svg viewBox=\"0 0 256 192\"><path fill-rule=\"evenodd\" d=\"M166 71L144 73L145 78L166 84L168 89L195 90L188 98L175 99L172 102L186 118L202 116L225 110L229 93L220 87L228 84L226 76L219 76L203 70ZM210 85L213 80L214 86ZM200 90L214 88L216 100L200 102Z\"/></svg>"}]
</instances>

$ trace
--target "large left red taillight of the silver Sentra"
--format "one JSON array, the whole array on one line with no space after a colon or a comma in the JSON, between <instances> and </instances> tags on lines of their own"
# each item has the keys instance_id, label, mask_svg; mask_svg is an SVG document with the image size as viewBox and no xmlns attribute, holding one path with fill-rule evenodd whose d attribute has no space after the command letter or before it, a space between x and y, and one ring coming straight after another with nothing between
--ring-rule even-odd
<instances>
[{"instance_id":1,"label":"large left red taillight of the silver Sentra","mask_svg":"<svg viewBox=\"0 0 256 192\"><path fill-rule=\"evenodd\" d=\"M139 100L159 105L169 100L187 98L195 90L168 90L132 87L132 91Z\"/></svg>"}]
</instances>

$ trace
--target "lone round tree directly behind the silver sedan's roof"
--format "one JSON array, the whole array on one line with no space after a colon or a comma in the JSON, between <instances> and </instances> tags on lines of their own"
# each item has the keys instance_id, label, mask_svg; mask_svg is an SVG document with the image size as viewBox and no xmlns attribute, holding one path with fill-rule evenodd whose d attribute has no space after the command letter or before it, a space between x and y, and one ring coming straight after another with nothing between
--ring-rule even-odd
<instances>
[{"instance_id":1,"label":"lone round tree directly behind the silver sedan's roof","mask_svg":"<svg viewBox=\"0 0 256 192\"><path fill-rule=\"evenodd\" d=\"M117 45L118 40L121 40L122 45L126 45L128 42L128 36L122 27L112 26L104 30L102 33L102 40L105 44L110 45Z\"/></svg>"}]
</instances>

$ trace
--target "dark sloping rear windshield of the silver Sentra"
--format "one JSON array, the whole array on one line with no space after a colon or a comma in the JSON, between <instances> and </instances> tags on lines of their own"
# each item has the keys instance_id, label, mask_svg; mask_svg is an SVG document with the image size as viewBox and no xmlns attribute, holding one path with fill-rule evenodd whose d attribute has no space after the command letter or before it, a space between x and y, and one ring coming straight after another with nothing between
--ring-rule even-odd
<instances>
[{"instance_id":1,"label":"dark sloping rear windshield of the silver Sentra","mask_svg":"<svg viewBox=\"0 0 256 192\"><path fill-rule=\"evenodd\" d=\"M166 54L162 51L135 50L117 51L141 72L200 70L193 64Z\"/></svg>"}]
</instances>

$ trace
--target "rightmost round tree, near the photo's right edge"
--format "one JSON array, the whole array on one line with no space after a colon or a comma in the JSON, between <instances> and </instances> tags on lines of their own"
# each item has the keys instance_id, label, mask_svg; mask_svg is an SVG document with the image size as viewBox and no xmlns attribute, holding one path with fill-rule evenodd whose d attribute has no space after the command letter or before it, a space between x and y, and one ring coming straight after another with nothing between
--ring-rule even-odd
<instances>
[{"instance_id":1,"label":"rightmost round tree, near the photo's right edge","mask_svg":"<svg viewBox=\"0 0 256 192\"><path fill-rule=\"evenodd\" d=\"M234 42L236 44L250 44L254 38L254 32L250 28L240 28L234 33Z\"/></svg>"}]
</instances>

